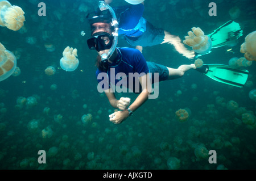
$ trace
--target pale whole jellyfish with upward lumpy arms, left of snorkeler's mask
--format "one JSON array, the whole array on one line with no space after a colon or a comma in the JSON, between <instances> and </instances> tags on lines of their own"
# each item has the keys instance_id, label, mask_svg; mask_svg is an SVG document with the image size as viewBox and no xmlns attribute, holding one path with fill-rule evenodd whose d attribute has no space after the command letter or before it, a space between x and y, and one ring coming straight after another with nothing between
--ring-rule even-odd
<instances>
[{"instance_id":1,"label":"pale whole jellyfish with upward lumpy arms, left of snorkeler's mask","mask_svg":"<svg viewBox=\"0 0 256 181\"><path fill-rule=\"evenodd\" d=\"M66 47L63 51L63 57L60 59L60 67L66 71L74 71L79 66L77 49Z\"/></svg>"}]
</instances>

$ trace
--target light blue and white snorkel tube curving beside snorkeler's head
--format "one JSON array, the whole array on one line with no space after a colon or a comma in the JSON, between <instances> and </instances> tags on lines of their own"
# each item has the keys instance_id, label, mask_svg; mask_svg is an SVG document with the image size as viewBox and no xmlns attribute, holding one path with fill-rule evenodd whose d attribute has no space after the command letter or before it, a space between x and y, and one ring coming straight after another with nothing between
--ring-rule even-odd
<instances>
[{"instance_id":1,"label":"light blue and white snorkel tube curving beside snorkeler's head","mask_svg":"<svg viewBox=\"0 0 256 181\"><path fill-rule=\"evenodd\" d=\"M99 1L98 7L101 11L108 9L110 11L110 14L112 15L112 26L114 26L114 32L112 35L114 36L112 47L109 49L108 53L103 53L101 55L101 61L106 62L109 60L109 58L112 56L115 48L117 47L117 40L118 40L118 22L117 22L117 16L115 16L115 12L108 4L105 3L105 1Z\"/></svg>"}]
</instances>

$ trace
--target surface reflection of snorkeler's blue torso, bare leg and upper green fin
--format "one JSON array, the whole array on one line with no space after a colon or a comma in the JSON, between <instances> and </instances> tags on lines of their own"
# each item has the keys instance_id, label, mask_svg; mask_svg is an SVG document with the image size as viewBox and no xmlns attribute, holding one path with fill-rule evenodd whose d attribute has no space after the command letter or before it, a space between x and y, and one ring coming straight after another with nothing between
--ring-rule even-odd
<instances>
[{"instance_id":1,"label":"surface reflection of snorkeler's blue torso, bare leg and upper green fin","mask_svg":"<svg viewBox=\"0 0 256 181\"><path fill-rule=\"evenodd\" d=\"M143 47L172 44L174 48L187 58L196 58L202 54L194 50L187 49L181 43L180 37L171 35L170 32L162 28L154 27L150 22L143 18L144 0L125 0L131 5L114 7L113 10L117 14L119 22L119 34L123 35L127 43L136 47L142 52ZM111 3L112 0L105 0L106 3ZM212 48L222 47L224 45L233 46L237 43L237 39L242 36L240 24L229 20L222 26L218 27L208 35L212 41Z\"/></svg>"}]
</instances>

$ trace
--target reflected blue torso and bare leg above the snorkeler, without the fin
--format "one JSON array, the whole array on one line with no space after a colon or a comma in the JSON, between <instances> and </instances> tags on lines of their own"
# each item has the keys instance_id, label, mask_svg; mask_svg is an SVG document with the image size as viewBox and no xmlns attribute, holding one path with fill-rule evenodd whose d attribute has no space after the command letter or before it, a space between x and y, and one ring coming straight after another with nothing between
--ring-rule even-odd
<instances>
[{"instance_id":1,"label":"reflected blue torso and bare leg above the snorkeler, without the fin","mask_svg":"<svg viewBox=\"0 0 256 181\"><path fill-rule=\"evenodd\" d=\"M112 0L105 0L111 3ZM122 35L127 43L136 47L142 52L143 47L151 47L158 44L169 43L187 58L195 57L193 50L188 50L181 42L179 36L171 35L170 32L162 28L154 27L150 22L143 18L144 3L133 3L133 5L113 7L119 23L119 35ZM140 3L142 2L142 3ZM93 14L88 14L92 17Z\"/></svg>"}]
</instances>

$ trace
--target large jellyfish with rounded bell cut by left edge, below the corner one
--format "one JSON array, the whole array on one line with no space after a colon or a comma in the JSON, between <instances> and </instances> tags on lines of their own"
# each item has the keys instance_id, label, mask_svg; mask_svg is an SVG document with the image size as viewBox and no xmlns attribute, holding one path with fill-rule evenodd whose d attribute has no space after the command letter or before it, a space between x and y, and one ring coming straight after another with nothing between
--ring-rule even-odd
<instances>
[{"instance_id":1,"label":"large jellyfish with rounded bell cut by left edge, below the corner one","mask_svg":"<svg viewBox=\"0 0 256 181\"><path fill-rule=\"evenodd\" d=\"M15 68L16 57L0 43L0 82L10 77Z\"/></svg>"}]
</instances>

